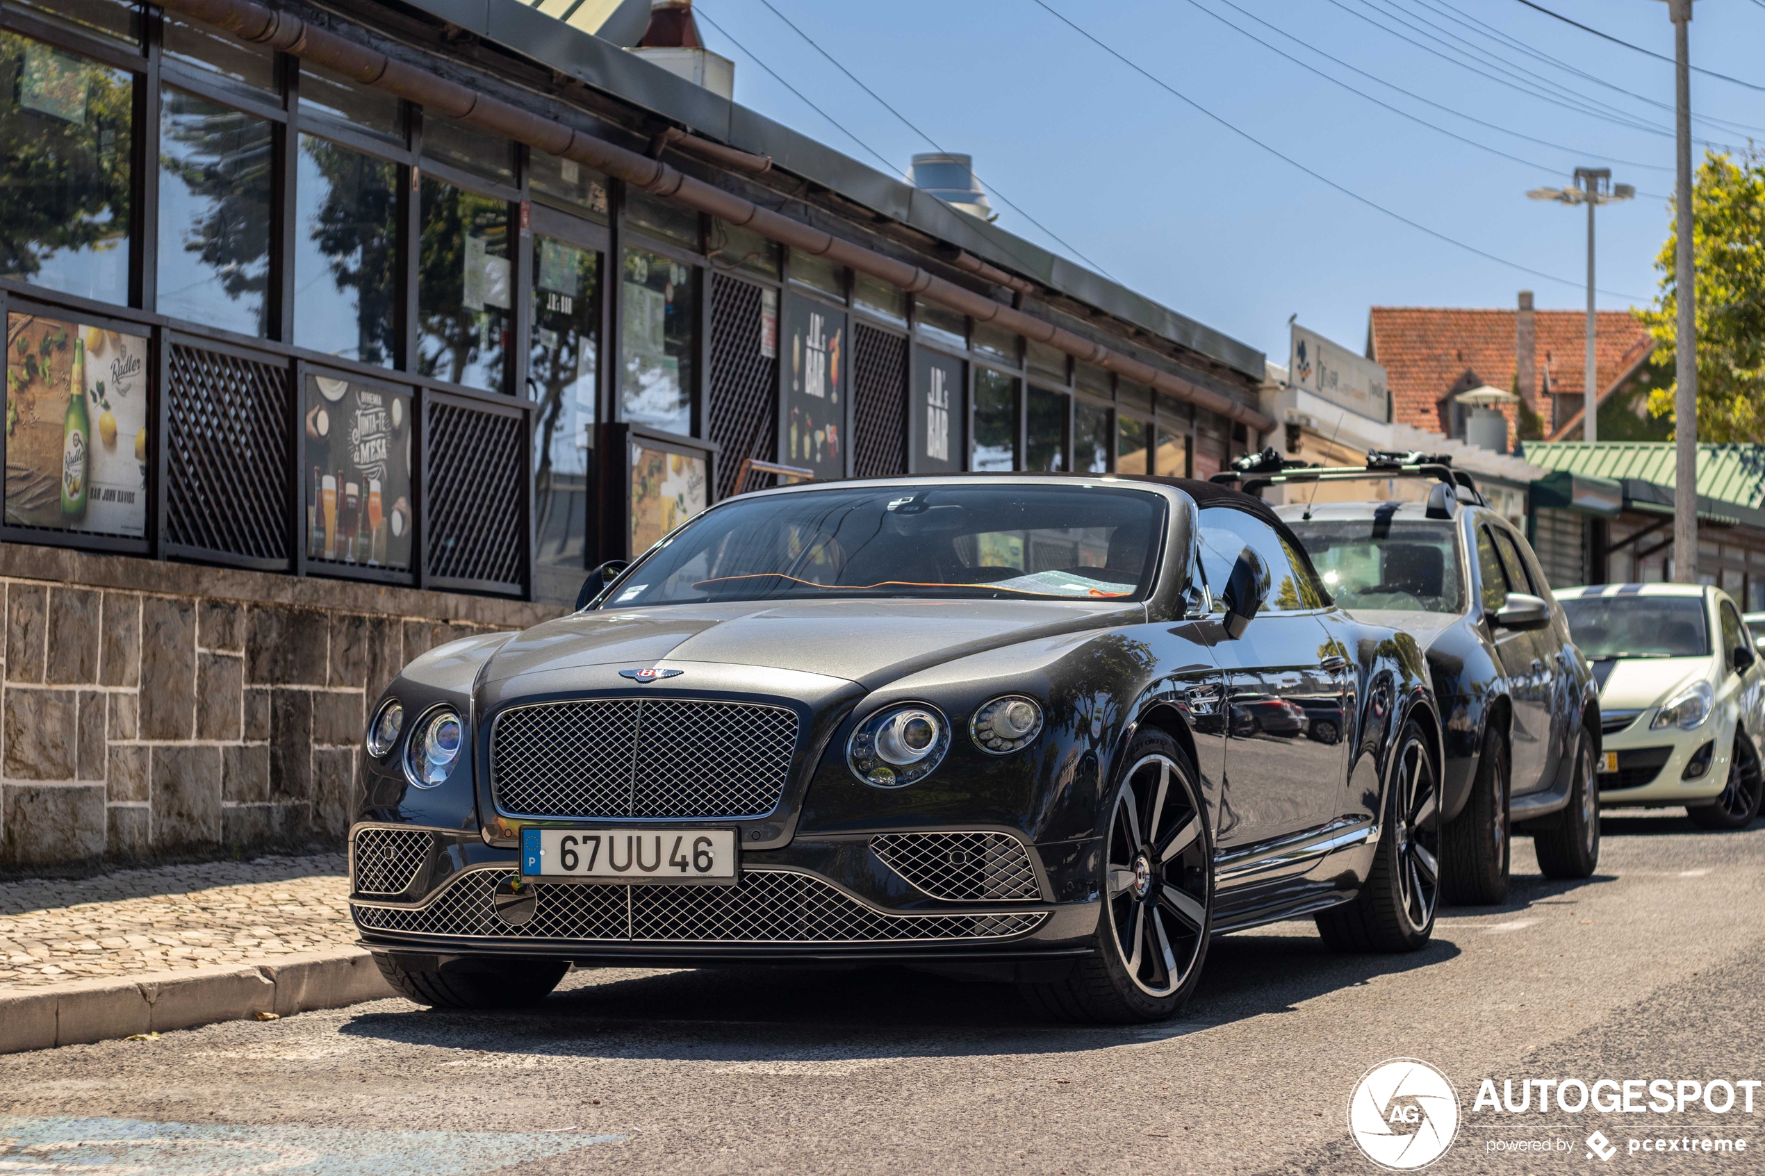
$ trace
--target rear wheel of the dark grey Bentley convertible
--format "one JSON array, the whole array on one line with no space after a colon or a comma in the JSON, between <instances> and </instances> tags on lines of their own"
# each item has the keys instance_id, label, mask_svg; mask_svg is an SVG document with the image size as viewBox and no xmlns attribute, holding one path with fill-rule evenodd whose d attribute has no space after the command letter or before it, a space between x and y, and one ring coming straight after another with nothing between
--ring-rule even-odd
<instances>
[{"instance_id":1,"label":"rear wheel of the dark grey Bentley convertible","mask_svg":"<svg viewBox=\"0 0 1765 1176\"><path fill-rule=\"evenodd\" d=\"M1386 781L1384 834L1350 903L1313 915L1336 952L1414 952L1433 936L1440 897L1440 779L1428 737L1410 719Z\"/></svg>"}]
</instances>

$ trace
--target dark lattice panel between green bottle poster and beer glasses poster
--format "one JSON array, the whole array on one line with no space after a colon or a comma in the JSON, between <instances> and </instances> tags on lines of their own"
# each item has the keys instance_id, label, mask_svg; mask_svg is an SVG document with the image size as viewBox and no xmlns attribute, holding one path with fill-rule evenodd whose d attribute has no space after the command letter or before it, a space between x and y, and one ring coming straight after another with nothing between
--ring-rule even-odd
<instances>
[{"instance_id":1,"label":"dark lattice panel between green bottle poster and beer glasses poster","mask_svg":"<svg viewBox=\"0 0 1765 1176\"><path fill-rule=\"evenodd\" d=\"M288 368L166 346L166 545L286 568Z\"/></svg>"}]
</instances>

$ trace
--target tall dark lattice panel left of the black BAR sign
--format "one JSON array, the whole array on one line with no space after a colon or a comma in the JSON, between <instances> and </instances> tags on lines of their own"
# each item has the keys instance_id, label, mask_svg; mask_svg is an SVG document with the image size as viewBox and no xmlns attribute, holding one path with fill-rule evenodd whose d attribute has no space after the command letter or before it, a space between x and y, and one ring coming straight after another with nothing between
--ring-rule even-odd
<instances>
[{"instance_id":1,"label":"tall dark lattice panel left of the black BAR sign","mask_svg":"<svg viewBox=\"0 0 1765 1176\"><path fill-rule=\"evenodd\" d=\"M741 458L770 462L778 443L777 319L775 354L761 353L762 303L770 293L754 282L711 275L711 441L722 446L720 499L734 492Z\"/></svg>"}]
</instances>

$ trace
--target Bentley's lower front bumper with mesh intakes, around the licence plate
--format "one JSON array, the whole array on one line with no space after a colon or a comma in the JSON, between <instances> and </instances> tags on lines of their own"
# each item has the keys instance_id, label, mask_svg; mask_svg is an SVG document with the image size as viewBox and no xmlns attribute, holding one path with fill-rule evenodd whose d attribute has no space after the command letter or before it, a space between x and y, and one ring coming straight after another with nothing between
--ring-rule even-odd
<instances>
[{"instance_id":1,"label":"Bentley's lower front bumper with mesh intakes, around the licence plate","mask_svg":"<svg viewBox=\"0 0 1765 1176\"><path fill-rule=\"evenodd\" d=\"M999 892L1022 897L937 897L932 875L891 867L872 836L845 836L748 853L736 885L530 882L531 915L512 924L492 892L519 871L514 853L459 830L358 825L349 913L374 950L577 963L1022 959L1085 950L1096 899L1050 901L1048 869L1084 869L1077 859L1093 855L1094 843L1027 846L999 832L976 836L1017 855L995 876L1017 880Z\"/></svg>"}]
</instances>

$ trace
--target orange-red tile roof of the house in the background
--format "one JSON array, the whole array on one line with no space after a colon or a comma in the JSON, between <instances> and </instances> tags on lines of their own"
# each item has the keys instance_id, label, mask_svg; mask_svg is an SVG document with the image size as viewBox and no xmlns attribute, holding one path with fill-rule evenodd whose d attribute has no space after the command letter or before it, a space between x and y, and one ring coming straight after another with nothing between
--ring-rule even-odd
<instances>
[{"instance_id":1,"label":"orange-red tile roof of the house in the background","mask_svg":"<svg viewBox=\"0 0 1765 1176\"><path fill-rule=\"evenodd\" d=\"M1386 367L1396 420L1440 428L1440 398L1472 372L1477 383L1502 391L1514 386L1518 310L1449 307L1373 307L1368 353ZM1534 310L1534 390L1581 395L1587 324L1583 310ZM1654 347L1627 310L1601 310L1596 319L1599 388L1611 384ZM1550 428L1550 407L1534 406Z\"/></svg>"}]
</instances>

